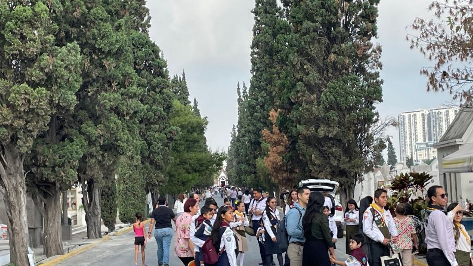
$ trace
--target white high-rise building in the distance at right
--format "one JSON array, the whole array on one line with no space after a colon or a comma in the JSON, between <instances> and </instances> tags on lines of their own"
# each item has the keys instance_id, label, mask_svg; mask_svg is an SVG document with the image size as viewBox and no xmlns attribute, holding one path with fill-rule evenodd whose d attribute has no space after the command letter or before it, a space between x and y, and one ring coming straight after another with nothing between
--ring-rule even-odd
<instances>
[{"instance_id":1,"label":"white high-rise building in the distance at right","mask_svg":"<svg viewBox=\"0 0 473 266\"><path fill-rule=\"evenodd\" d=\"M401 161L406 157L414 162L425 162L437 158L437 143L450 123L458 114L458 107L439 108L402 112L399 115L399 143Z\"/></svg>"}]
</instances>

